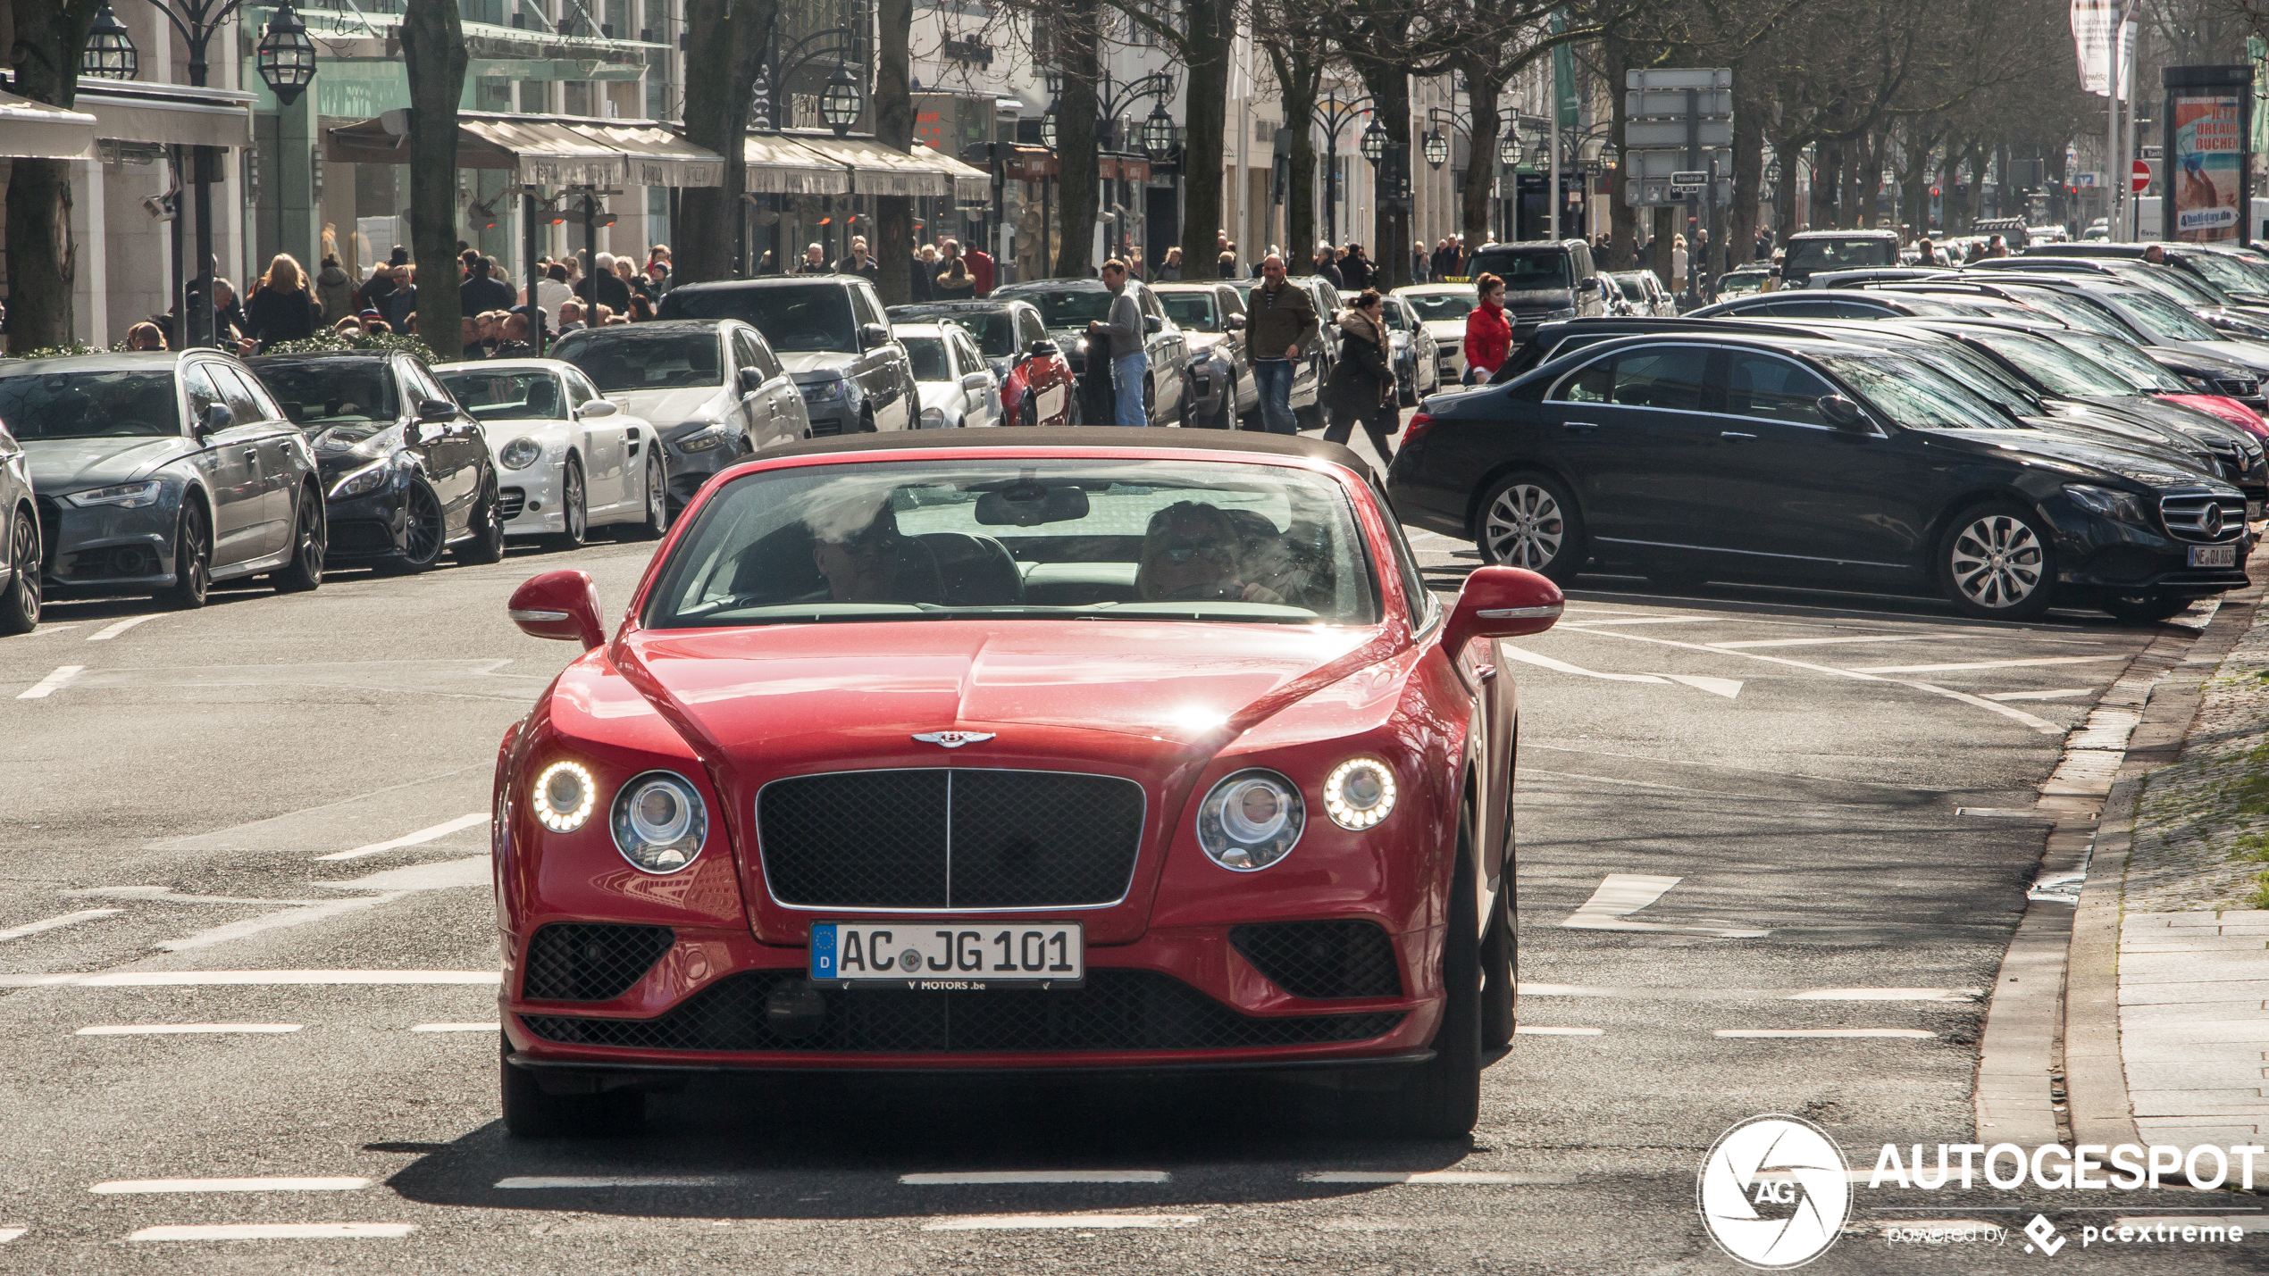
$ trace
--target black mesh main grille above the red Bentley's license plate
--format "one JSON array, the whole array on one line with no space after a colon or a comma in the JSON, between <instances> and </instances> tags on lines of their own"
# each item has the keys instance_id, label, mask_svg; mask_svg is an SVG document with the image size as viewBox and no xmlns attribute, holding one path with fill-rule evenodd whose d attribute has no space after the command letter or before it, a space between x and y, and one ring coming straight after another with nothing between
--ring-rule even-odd
<instances>
[{"instance_id":1,"label":"black mesh main grille above the red Bentley's license plate","mask_svg":"<svg viewBox=\"0 0 2269 1276\"><path fill-rule=\"evenodd\" d=\"M1134 873L1141 814L1141 784L1110 775L851 771L767 784L758 845L783 904L1110 904Z\"/></svg>"}]
</instances>

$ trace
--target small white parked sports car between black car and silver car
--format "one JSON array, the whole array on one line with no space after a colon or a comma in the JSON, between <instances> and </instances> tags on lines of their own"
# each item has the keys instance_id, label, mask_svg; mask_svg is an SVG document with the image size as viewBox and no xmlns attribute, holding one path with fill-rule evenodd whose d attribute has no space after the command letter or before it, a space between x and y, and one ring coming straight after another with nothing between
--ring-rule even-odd
<instances>
[{"instance_id":1,"label":"small white parked sports car between black car and silver car","mask_svg":"<svg viewBox=\"0 0 2269 1276\"><path fill-rule=\"evenodd\" d=\"M440 369L481 422L501 471L504 535L579 548L594 526L669 530L669 467L653 424L599 394L572 363L490 358Z\"/></svg>"}]
</instances>

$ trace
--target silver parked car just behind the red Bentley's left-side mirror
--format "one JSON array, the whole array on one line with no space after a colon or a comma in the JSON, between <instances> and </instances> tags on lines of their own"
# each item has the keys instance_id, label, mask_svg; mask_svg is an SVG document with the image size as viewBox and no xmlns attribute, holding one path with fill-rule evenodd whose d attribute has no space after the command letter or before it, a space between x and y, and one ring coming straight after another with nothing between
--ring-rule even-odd
<instances>
[{"instance_id":1,"label":"silver parked car just behind the red Bentley's left-side mirror","mask_svg":"<svg viewBox=\"0 0 2269 1276\"><path fill-rule=\"evenodd\" d=\"M672 519L719 469L812 433L803 392L765 333L740 320L583 329L551 354L660 431Z\"/></svg>"}]
</instances>

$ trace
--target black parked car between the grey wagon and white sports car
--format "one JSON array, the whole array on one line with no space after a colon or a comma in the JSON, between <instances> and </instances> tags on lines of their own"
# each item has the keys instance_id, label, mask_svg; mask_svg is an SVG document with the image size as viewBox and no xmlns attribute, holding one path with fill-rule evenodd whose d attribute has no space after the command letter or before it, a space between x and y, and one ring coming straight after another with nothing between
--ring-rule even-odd
<instances>
[{"instance_id":1,"label":"black parked car between the grey wagon and white sports car","mask_svg":"<svg viewBox=\"0 0 2269 1276\"><path fill-rule=\"evenodd\" d=\"M315 451L327 562L411 573L442 551L474 564L504 558L504 483L488 431L422 360L340 351L247 363Z\"/></svg>"}]
</instances>

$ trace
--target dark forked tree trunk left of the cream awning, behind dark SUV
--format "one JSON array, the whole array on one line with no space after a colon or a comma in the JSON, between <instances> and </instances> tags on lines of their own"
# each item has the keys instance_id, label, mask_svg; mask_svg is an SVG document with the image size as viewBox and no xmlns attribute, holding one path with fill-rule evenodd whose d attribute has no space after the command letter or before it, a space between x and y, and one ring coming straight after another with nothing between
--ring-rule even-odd
<instances>
[{"instance_id":1,"label":"dark forked tree trunk left of the cream awning, behind dark SUV","mask_svg":"<svg viewBox=\"0 0 2269 1276\"><path fill-rule=\"evenodd\" d=\"M774 0L685 0L685 141L724 156L724 186L688 186L678 197L676 283L749 274L740 261L749 95L776 11ZM885 245L874 247L887 256Z\"/></svg>"}]
</instances>

